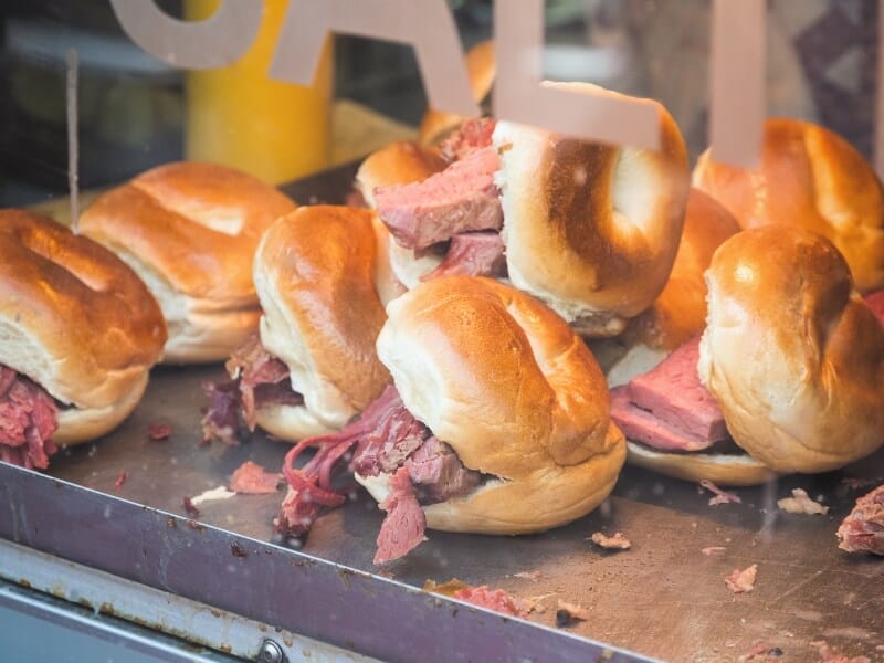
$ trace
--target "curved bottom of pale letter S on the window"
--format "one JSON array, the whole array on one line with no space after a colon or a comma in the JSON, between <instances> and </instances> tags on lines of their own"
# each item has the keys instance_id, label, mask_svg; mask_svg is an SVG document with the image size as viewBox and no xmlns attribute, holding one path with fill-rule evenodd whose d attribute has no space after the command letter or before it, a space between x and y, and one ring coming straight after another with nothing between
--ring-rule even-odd
<instances>
[{"instance_id":1,"label":"curved bottom of pale letter S on the window","mask_svg":"<svg viewBox=\"0 0 884 663\"><path fill-rule=\"evenodd\" d=\"M204 21L179 21L152 0L110 0L131 40L162 62L185 69L213 69L235 62L255 39L262 3L223 0Z\"/></svg>"}]
</instances>

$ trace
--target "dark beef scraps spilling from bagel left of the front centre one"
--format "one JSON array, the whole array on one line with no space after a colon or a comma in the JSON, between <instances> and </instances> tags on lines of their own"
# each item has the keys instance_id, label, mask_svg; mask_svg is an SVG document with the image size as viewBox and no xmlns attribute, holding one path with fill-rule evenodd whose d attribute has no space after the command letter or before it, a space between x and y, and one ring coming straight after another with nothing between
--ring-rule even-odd
<instances>
[{"instance_id":1,"label":"dark beef scraps spilling from bagel left of the front centre one","mask_svg":"<svg viewBox=\"0 0 884 663\"><path fill-rule=\"evenodd\" d=\"M304 397L292 389L288 367L264 349L257 335L250 336L224 366L230 381L203 385L210 399L201 421L203 443L217 439L238 444L243 423L255 430L260 408L304 402Z\"/></svg>"}]
</instances>

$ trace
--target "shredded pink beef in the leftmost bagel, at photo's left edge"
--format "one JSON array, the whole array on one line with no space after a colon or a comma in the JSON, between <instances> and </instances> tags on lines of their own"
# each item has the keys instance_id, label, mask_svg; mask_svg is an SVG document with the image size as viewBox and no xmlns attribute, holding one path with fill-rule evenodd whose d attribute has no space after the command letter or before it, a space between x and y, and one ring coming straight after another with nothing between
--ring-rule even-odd
<instances>
[{"instance_id":1,"label":"shredded pink beef in the leftmost bagel, at photo's left edge","mask_svg":"<svg viewBox=\"0 0 884 663\"><path fill-rule=\"evenodd\" d=\"M0 365L0 461L45 470L59 448L54 399L29 378Z\"/></svg>"}]
</instances>

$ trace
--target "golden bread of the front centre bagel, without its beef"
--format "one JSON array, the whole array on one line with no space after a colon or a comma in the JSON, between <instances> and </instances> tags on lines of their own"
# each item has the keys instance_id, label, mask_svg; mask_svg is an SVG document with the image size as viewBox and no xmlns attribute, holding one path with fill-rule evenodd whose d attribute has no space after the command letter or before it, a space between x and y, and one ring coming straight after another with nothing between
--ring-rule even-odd
<instances>
[{"instance_id":1,"label":"golden bread of the front centre bagel, without its beef","mask_svg":"<svg viewBox=\"0 0 884 663\"><path fill-rule=\"evenodd\" d=\"M424 507L435 529L541 532L613 488L625 442L604 377L568 325L488 278L431 280L391 302L378 337L408 410L463 464L477 491Z\"/></svg>"}]
</instances>

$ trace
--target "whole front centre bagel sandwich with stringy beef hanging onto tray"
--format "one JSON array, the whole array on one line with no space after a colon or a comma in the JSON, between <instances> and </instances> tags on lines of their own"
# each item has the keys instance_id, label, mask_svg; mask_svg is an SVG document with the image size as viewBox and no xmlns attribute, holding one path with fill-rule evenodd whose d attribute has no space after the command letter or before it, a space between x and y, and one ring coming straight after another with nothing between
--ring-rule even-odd
<instances>
[{"instance_id":1,"label":"whole front centre bagel sandwich with stringy beef hanging onto tray","mask_svg":"<svg viewBox=\"0 0 884 663\"><path fill-rule=\"evenodd\" d=\"M623 435L592 354L555 312L473 276L423 283L387 312L377 350L393 383L339 433L288 452L281 532L303 534L320 506L343 504L335 476L349 471L387 512L376 564L425 528L544 532L608 496Z\"/></svg>"}]
</instances>

